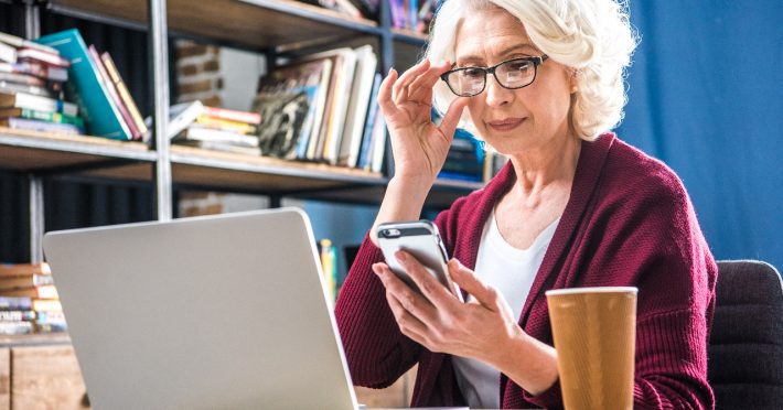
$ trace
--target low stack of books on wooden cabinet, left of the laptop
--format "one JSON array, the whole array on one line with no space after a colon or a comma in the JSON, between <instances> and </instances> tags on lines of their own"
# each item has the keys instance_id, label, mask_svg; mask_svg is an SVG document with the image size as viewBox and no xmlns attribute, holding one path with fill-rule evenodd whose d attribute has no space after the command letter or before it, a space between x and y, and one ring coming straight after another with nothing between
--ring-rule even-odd
<instances>
[{"instance_id":1,"label":"low stack of books on wooden cabinet, left of the laptop","mask_svg":"<svg viewBox=\"0 0 783 410\"><path fill-rule=\"evenodd\" d=\"M0 334L65 331L49 265L0 265Z\"/></svg>"}]
</instances>

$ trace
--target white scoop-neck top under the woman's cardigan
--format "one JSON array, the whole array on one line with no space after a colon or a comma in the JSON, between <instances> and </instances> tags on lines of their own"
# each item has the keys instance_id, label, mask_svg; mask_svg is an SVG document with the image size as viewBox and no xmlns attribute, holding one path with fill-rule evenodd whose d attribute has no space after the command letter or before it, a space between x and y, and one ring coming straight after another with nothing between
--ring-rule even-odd
<instances>
[{"instance_id":1,"label":"white scoop-neck top under the woman's cardigan","mask_svg":"<svg viewBox=\"0 0 783 410\"><path fill-rule=\"evenodd\" d=\"M544 260L560 218L547 226L527 249L517 249L501 235L495 212L484 225L475 262L475 273L484 283L497 289L506 300L514 317L522 314L533 280ZM469 296L473 300L473 296ZM476 359L453 356L457 384L472 409L498 409L501 373Z\"/></svg>"}]
</instances>

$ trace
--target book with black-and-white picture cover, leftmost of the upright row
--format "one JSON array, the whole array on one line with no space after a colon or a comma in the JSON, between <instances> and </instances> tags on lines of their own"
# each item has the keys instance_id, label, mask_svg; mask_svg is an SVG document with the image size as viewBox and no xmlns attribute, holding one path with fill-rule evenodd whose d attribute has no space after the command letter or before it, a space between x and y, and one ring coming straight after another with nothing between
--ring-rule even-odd
<instances>
[{"instance_id":1,"label":"book with black-and-white picture cover, leftmost of the upright row","mask_svg":"<svg viewBox=\"0 0 783 410\"><path fill-rule=\"evenodd\" d=\"M304 148L320 137L331 72L332 61L321 58L279 66L259 79L253 110L261 117L264 155L308 158Z\"/></svg>"}]
</instances>

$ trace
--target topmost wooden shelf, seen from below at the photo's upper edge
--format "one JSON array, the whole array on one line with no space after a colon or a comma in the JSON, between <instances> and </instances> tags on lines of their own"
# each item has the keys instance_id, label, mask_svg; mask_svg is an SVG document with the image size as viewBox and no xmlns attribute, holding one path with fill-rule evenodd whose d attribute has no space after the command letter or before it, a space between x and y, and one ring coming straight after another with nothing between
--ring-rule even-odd
<instances>
[{"instance_id":1,"label":"topmost wooden shelf, seen from below at the photo's upper edge","mask_svg":"<svg viewBox=\"0 0 783 410\"><path fill-rule=\"evenodd\" d=\"M55 12L97 21L147 26L147 2L131 0L51 0ZM168 0L169 30L213 42L255 48L379 34L377 23L293 0ZM126 25L128 25L126 24Z\"/></svg>"}]
</instances>

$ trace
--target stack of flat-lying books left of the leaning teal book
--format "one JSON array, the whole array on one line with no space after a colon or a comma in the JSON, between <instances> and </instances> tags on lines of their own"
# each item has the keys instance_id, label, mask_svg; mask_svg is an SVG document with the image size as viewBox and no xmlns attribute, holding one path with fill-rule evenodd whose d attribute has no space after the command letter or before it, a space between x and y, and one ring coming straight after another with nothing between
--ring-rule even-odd
<instances>
[{"instance_id":1,"label":"stack of flat-lying books left of the leaning teal book","mask_svg":"<svg viewBox=\"0 0 783 410\"><path fill-rule=\"evenodd\" d=\"M53 47L0 33L0 126L84 133L77 106L63 99L69 66Z\"/></svg>"}]
</instances>

